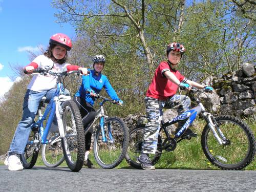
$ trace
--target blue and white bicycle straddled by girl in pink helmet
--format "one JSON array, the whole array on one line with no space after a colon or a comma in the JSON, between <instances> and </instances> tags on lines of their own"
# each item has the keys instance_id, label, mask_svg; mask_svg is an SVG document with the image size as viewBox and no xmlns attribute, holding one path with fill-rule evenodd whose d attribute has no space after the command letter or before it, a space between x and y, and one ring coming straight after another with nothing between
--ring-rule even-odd
<instances>
[{"instance_id":1,"label":"blue and white bicycle straddled by girl in pink helmet","mask_svg":"<svg viewBox=\"0 0 256 192\"><path fill-rule=\"evenodd\" d=\"M33 74L53 75L58 77L57 89L54 97L47 105L44 114L41 110L45 98L38 108L38 120L33 123L25 154L20 160L25 168L32 168L37 160L41 144L62 147L64 158L73 172L78 172L84 161L84 134L81 115L76 103L70 96L64 95L64 78L70 74L79 75L80 71L52 72L51 70L36 69ZM57 119L58 138L49 137L54 118ZM46 122L45 122L46 121ZM61 147L59 146L61 141ZM44 150L45 151L45 150ZM62 153L61 153L62 154ZM63 161L63 160L62 160Z\"/></svg>"}]
</instances>

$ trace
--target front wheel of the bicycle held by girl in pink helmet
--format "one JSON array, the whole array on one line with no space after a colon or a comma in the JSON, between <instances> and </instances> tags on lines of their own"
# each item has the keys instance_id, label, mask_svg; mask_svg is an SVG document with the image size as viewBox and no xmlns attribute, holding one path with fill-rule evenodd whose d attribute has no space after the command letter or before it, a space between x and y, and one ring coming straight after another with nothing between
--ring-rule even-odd
<instances>
[{"instance_id":1,"label":"front wheel of the bicycle held by girl in pink helmet","mask_svg":"<svg viewBox=\"0 0 256 192\"><path fill-rule=\"evenodd\" d=\"M79 172L83 166L85 143L80 111L73 100L62 104L62 122L65 137L61 138L62 149L68 167Z\"/></svg>"}]
</instances>

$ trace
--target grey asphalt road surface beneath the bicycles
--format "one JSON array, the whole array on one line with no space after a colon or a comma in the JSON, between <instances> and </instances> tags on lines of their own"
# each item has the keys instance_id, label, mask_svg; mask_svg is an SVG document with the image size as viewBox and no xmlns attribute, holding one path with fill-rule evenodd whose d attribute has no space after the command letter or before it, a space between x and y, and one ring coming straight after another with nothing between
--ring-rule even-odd
<instances>
[{"instance_id":1,"label":"grey asphalt road surface beneath the bicycles","mask_svg":"<svg viewBox=\"0 0 256 192\"><path fill-rule=\"evenodd\" d=\"M256 191L256 171L69 168L11 172L0 166L0 191Z\"/></svg>"}]
</instances>

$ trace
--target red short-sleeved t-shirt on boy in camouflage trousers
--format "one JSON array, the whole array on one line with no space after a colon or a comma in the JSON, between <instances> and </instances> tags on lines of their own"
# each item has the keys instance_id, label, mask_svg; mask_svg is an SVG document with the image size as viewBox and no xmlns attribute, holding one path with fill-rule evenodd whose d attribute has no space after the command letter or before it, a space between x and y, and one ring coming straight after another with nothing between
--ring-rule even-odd
<instances>
[{"instance_id":1,"label":"red short-sleeved t-shirt on boy in camouflage trousers","mask_svg":"<svg viewBox=\"0 0 256 192\"><path fill-rule=\"evenodd\" d=\"M176 94L178 85L168 80L163 75L163 72L165 71L172 72L180 81L185 79L185 77L182 76L179 71L172 70L166 61L162 61L157 67L150 87L146 92L147 97L152 97L159 100L167 100L169 97L172 97Z\"/></svg>"}]
</instances>

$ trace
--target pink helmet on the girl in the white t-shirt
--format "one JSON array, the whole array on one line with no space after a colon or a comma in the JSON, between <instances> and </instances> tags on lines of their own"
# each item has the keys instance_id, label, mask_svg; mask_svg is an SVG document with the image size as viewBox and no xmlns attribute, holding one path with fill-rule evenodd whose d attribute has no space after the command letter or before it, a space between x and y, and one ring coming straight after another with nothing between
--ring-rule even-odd
<instances>
[{"instance_id":1,"label":"pink helmet on the girl in the white t-shirt","mask_svg":"<svg viewBox=\"0 0 256 192\"><path fill-rule=\"evenodd\" d=\"M49 44L65 47L68 51L70 51L72 48L71 39L63 33L56 33L51 36Z\"/></svg>"}]
</instances>

